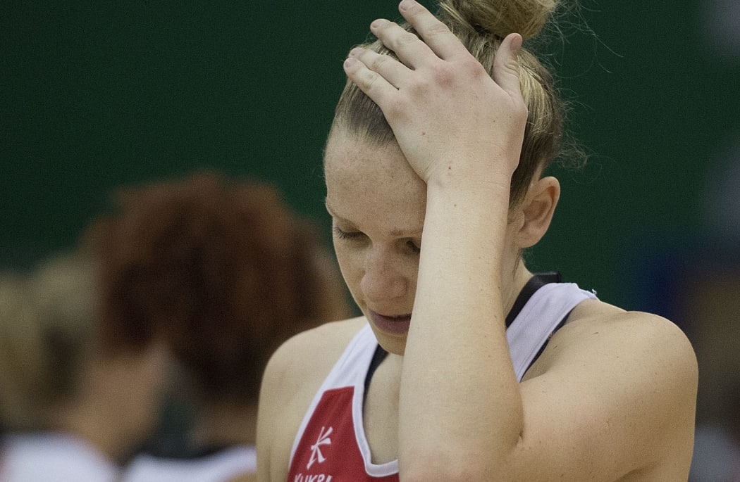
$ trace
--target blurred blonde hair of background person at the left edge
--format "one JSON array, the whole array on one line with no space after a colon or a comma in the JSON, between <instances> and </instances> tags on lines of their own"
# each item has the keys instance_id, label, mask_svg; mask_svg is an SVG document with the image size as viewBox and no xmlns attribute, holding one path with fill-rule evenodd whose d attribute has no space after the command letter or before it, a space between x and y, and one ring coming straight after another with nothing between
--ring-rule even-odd
<instances>
[{"instance_id":1,"label":"blurred blonde hair of background person at the left edge","mask_svg":"<svg viewBox=\"0 0 740 482\"><path fill-rule=\"evenodd\" d=\"M55 257L31 274L0 275L0 421L47 428L47 413L73 397L95 332L91 263Z\"/></svg>"}]
</instances>

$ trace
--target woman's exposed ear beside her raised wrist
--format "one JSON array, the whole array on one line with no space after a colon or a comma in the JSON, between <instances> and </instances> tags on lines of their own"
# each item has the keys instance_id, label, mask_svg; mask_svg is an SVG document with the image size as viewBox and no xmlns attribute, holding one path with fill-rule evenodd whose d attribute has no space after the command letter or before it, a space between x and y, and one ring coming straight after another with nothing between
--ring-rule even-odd
<instances>
[{"instance_id":1,"label":"woman's exposed ear beside her raised wrist","mask_svg":"<svg viewBox=\"0 0 740 482\"><path fill-rule=\"evenodd\" d=\"M519 248L530 248L545 236L560 198L560 183L555 177L534 181L522 204L524 219L517 231Z\"/></svg>"}]
</instances>

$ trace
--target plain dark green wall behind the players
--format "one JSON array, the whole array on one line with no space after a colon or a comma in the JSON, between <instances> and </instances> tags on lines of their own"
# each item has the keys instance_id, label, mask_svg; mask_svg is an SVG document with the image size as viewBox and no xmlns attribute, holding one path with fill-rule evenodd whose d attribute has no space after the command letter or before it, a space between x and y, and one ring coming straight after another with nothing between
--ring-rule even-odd
<instances>
[{"instance_id":1,"label":"plain dark green wall behind the players","mask_svg":"<svg viewBox=\"0 0 740 482\"><path fill-rule=\"evenodd\" d=\"M72 244L118 186L206 167L273 181L328 223L320 162L341 63L396 4L3 2L0 262ZM556 172L561 206L533 268L630 307L642 247L699 226L740 102L719 81L739 65L707 59L698 7L585 1L564 24L551 61L591 160Z\"/></svg>"}]
</instances>

